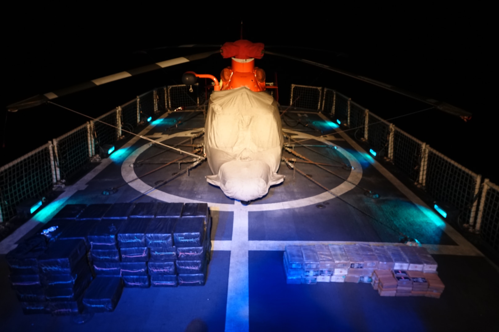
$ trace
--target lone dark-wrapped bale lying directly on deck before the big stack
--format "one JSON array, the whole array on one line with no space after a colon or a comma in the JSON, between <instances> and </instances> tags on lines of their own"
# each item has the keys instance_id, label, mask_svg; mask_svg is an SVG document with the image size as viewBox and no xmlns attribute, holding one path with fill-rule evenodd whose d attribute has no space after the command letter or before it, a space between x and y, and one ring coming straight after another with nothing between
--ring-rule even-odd
<instances>
[{"instance_id":1,"label":"lone dark-wrapped bale lying directly on deck before the big stack","mask_svg":"<svg viewBox=\"0 0 499 332\"><path fill-rule=\"evenodd\" d=\"M83 296L83 305L89 313L111 312L116 308L123 292L119 277L98 277Z\"/></svg>"}]
</instances>

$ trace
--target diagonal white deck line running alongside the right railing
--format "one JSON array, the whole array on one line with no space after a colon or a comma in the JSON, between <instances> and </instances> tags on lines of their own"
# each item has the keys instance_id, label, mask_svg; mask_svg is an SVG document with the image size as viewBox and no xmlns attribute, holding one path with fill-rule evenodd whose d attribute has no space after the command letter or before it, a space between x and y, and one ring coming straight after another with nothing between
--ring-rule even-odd
<instances>
[{"instance_id":1,"label":"diagonal white deck line running alongside the right railing","mask_svg":"<svg viewBox=\"0 0 499 332\"><path fill-rule=\"evenodd\" d=\"M324 120L329 120L324 114L318 113L319 116ZM350 144L355 150L360 153L367 154L362 147L360 147L357 142L350 138L346 133L341 130L335 129L337 132L345 139L345 141ZM432 220L433 218L440 217L437 216L429 207L420 199L416 194L414 194L409 188L407 188L402 182L399 181L392 173L390 173L386 168L384 168L379 162L372 158L366 158L366 160L378 170L388 181L390 181L395 188L397 188L402 194L404 194L414 205L418 207L427 217ZM441 220L441 219L440 219ZM450 226L446 221L444 227L440 227L453 241L455 241L459 246L466 247L465 251L475 251L477 256L483 256L484 254L478 250L473 244L471 244L466 238L463 237L456 229Z\"/></svg>"}]
</instances>

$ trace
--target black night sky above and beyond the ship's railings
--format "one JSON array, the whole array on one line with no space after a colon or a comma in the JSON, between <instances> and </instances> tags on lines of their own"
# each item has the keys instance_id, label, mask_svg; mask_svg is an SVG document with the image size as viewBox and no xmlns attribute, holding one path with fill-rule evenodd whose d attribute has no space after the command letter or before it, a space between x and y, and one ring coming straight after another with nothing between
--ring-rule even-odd
<instances>
[{"instance_id":1,"label":"black night sky above and beyond the ship's railings","mask_svg":"<svg viewBox=\"0 0 499 332\"><path fill-rule=\"evenodd\" d=\"M191 13L187 6L173 11L123 8L119 13L96 8L17 8L4 19L3 106L123 70L212 50L166 48L137 52L235 41L240 38L243 20L244 39L266 46L288 46L272 51L347 70L472 112L472 120L466 123L437 110L393 122L498 183L497 167L490 161L494 154L488 153L494 151L497 142L492 134L497 104L492 102L491 84L496 72L492 60L495 38L493 24L481 16L488 10L422 8L417 12L390 8L389 14L376 13L378 10L359 14L355 10L287 17L281 9L276 17L266 8L265 15L254 12L249 17L237 17L227 7L213 16L204 13L206 18L202 19L202 11ZM98 116L152 88L180 84L181 74L187 70L218 76L228 65L229 60L214 55L199 63L128 78L55 101ZM309 65L269 55L256 65L266 71L267 81L277 72L282 105L289 105L288 87L295 83L335 89L386 119L427 108L420 102ZM5 145L1 147L0 164L86 121L48 105L8 113L6 122L4 109L0 116Z\"/></svg>"}]
</instances>

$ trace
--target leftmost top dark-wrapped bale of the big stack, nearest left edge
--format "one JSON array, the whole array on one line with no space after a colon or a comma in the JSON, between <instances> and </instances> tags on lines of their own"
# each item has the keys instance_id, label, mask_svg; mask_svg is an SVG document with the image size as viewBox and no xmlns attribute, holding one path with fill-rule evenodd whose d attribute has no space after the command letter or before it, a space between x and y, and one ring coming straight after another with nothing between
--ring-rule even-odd
<instances>
[{"instance_id":1,"label":"leftmost top dark-wrapped bale of the big stack, nearest left edge","mask_svg":"<svg viewBox=\"0 0 499 332\"><path fill-rule=\"evenodd\" d=\"M38 257L47 250L46 239L43 235L32 236L19 243L15 249L6 255L11 274L38 274Z\"/></svg>"}]
</instances>

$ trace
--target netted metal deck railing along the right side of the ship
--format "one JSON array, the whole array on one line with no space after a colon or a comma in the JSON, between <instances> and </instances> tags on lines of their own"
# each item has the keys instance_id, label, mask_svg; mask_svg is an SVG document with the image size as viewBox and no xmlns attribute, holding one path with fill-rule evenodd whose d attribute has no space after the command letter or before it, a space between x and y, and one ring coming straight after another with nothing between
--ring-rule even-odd
<instances>
[{"instance_id":1,"label":"netted metal deck railing along the right side of the ship","mask_svg":"<svg viewBox=\"0 0 499 332\"><path fill-rule=\"evenodd\" d=\"M339 120L499 251L499 187L332 89L291 85L292 106ZM299 103L299 101L303 101ZM322 103L317 103L322 101ZM318 105L318 106L317 106Z\"/></svg>"}]
</instances>

